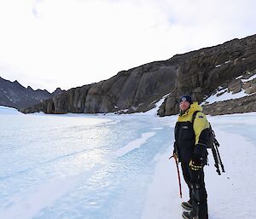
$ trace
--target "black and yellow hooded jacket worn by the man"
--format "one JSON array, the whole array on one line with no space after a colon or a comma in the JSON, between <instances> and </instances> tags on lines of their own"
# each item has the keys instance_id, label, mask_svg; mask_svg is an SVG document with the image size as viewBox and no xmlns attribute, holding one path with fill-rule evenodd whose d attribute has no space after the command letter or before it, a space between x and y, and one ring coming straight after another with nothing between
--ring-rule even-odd
<instances>
[{"instance_id":1,"label":"black and yellow hooded jacket worn by the man","mask_svg":"<svg viewBox=\"0 0 256 219\"><path fill-rule=\"evenodd\" d=\"M193 113L196 113L192 124ZM210 124L202 107L194 102L189 109L177 118L175 126L175 148L180 162L189 163L193 153L207 157L207 141Z\"/></svg>"}]
</instances>

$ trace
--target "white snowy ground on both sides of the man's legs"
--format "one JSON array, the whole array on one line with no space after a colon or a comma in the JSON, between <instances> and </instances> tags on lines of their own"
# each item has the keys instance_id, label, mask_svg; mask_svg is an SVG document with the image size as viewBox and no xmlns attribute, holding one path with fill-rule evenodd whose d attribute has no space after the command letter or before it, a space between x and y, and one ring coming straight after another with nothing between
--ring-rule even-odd
<instances>
[{"instance_id":1,"label":"white snowy ground on both sides of the man's legs","mask_svg":"<svg viewBox=\"0 0 256 219\"><path fill-rule=\"evenodd\" d=\"M218 122L219 118L212 117L212 124L215 121ZM225 124L230 124L229 117L222 116L221 118L224 119ZM247 124L249 119L242 121ZM256 148L242 135L227 133L218 129L214 130L220 143L218 150L226 172L218 176L214 167L212 152L208 151L209 166L204 169L209 217L224 219L229 218L232 214L232 217L236 219L256 218L253 205L244 205L244 203L250 203L256 199L256 190L252 189L256 178ZM171 153L172 147L168 148L166 153L155 158L157 164L154 169L153 181L148 187L142 219L181 218L183 209L180 204L189 199L189 190L183 181L179 164L183 191L183 198L179 198L176 165L173 159L168 159ZM245 164L247 168L245 168Z\"/></svg>"}]
</instances>

